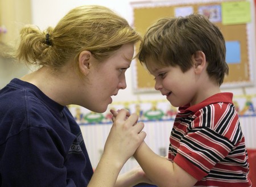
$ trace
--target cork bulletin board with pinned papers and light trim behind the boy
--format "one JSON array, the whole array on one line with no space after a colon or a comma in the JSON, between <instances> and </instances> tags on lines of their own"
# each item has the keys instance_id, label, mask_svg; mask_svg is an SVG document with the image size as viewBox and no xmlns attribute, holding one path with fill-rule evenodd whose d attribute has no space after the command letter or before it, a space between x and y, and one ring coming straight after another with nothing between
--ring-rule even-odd
<instances>
[{"instance_id":1,"label":"cork bulletin board with pinned papers and light trim behind the boy","mask_svg":"<svg viewBox=\"0 0 256 187\"><path fill-rule=\"evenodd\" d=\"M229 75L222 87L244 87L254 83L255 22L251 1L182 1L134 3L133 24L142 35L156 20L197 12L207 15L223 33ZM136 46L138 51L139 44ZM133 67L134 92L154 91L154 77L136 60Z\"/></svg>"}]
</instances>

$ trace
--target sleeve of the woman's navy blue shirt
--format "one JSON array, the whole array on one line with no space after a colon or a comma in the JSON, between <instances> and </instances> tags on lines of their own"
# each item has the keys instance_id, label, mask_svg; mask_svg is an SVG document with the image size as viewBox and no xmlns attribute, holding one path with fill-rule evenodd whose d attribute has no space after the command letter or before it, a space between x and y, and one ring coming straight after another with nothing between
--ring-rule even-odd
<instances>
[{"instance_id":1,"label":"sleeve of the woman's navy blue shirt","mask_svg":"<svg viewBox=\"0 0 256 187\"><path fill-rule=\"evenodd\" d=\"M67 179L57 135L30 127L7 139L1 158L2 186L75 186Z\"/></svg>"}]
</instances>

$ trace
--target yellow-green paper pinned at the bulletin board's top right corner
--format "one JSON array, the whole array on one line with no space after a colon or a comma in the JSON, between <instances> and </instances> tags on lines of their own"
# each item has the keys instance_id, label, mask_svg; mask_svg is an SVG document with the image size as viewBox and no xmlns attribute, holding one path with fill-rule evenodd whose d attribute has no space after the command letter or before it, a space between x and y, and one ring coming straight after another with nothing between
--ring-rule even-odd
<instances>
[{"instance_id":1,"label":"yellow-green paper pinned at the bulletin board's top right corner","mask_svg":"<svg viewBox=\"0 0 256 187\"><path fill-rule=\"evenodd\" d=\"M251 22L249 1L222 2L222 24L242 24Z\"/></svg>"}]
</instances>

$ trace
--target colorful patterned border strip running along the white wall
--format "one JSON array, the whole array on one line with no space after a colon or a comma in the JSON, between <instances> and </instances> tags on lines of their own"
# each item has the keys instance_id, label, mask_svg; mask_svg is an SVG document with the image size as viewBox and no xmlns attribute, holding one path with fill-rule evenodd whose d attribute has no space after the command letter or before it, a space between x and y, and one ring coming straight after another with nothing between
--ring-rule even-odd
<instances>
[{"instance_id":1,"label":"colorful patterned border strip running along the white wall","mask_svg":"<svg viewBox=\"0 0 256 187\"><path fill-rule=\"evenodd\" d=\"M240 116L256 116L254 107L256 95L234 96L233 103ZM130 113L137 113L139 121L143 122L174 120L177 113L177 108L173 107L167 100L113 102L105 113L95 113L77 105L69 105L68 107L76 121L81 125L112 124L110 109L116 111L125 108Z\"/></svg>"}]
</instances>

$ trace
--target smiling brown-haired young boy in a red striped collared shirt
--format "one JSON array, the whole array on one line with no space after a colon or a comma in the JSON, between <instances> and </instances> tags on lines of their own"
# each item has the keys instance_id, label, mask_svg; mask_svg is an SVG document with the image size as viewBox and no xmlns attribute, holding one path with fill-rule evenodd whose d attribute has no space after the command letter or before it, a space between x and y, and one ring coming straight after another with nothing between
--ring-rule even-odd
<instances>
[{"instance_id":1,"label":"smiling brown-haired young boy in a red striped collared shirt","mask_svg":"<svg viewBox=\"0 0 256 187\"><path fill-rule=\"evenodd\" d=\"M155 76L155 89L179 107L168 159L146 143L134 154L157 186L251 186L233 94L220 90L225 53L222 33L203 15L163 18L148 28L139 61Z\"/></svg>"}]
</instances>

